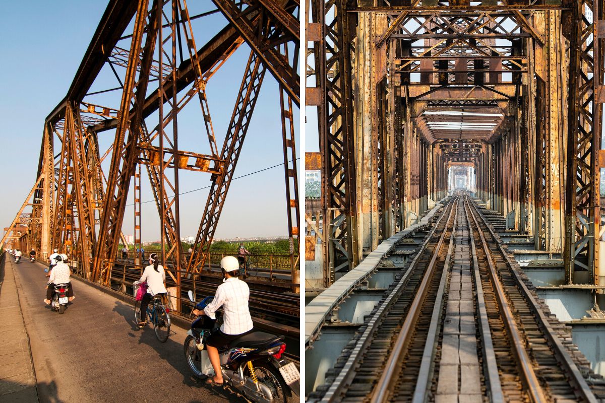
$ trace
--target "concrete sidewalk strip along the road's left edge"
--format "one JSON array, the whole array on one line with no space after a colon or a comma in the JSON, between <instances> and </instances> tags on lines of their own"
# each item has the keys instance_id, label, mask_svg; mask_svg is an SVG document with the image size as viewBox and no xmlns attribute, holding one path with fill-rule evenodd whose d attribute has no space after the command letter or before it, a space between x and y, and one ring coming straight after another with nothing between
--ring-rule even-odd
<instances>
[{"instance_id":1,"label":"concrete sidewalk strip along the road's left edge","mask_svg":"<svg viewBox=\"0 0 605 403\"><path fill-rule=\"evenodd\" d=\"M0 263L0 401L38 402L30 343L17 295L13 258Z\"/></svg>"}]
</instances>

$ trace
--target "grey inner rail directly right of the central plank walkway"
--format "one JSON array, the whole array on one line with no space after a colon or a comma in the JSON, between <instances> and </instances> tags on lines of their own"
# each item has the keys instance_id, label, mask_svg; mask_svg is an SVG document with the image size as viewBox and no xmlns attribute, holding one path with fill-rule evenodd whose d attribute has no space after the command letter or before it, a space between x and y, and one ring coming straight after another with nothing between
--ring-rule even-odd
<instances>
[{"instance_id":1,"label":"grey inner rail directly right of the central plank walkway","mask_svg":"<svg viewBox=\"0 0 605 403\"><path fill-rule=\"evenodd\" d=\"M468 199L465 199L465 203ZM465 205L465 210L468 211L468 205ZM479 274L479 262L477 261L477 249L475 246L475 239L473 237L473 227L471 227L471 220L466 213L466 222L468 223L469 240L471 243L471 251L473 253L473 277L475 282L475 289L477 292L477 314L479 316L480 327L479 330L482 335L483 341L483 359L485 359L484 371L486 372L486 379L489 384L489 391L491 392L490 401L492 403L502 403L504 396L502 394L502 384L500 383L500 375L498 371L498 363L495 358L494 344L491 338L491 330L489 329L489 318L487 309L485 307L485 297L483 295L483 286L481 285L481 275Z\"/></svg>"}]
</instances>

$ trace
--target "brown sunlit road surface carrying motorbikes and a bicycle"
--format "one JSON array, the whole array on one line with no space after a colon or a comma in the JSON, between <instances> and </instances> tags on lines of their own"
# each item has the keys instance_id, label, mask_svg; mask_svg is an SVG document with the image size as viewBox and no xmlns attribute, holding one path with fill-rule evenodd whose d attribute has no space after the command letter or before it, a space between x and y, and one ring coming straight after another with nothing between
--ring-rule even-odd
<instances>
[{"instance_id":1,"label":"brown sunlit road surface carrying motorbikes and a bicycle","mask_svg":"<svg viewBox=\"0 0 605 403\"><path fill-rule=\"evenodd\" d=\"M171 327L160 343L152 326L137 329L132 306L78 280L65 314L44 305L44 268L22 260L15 269L31 339L38 393L50 402L241 402L194 378L183 356L186 331Z\"/></svg>"}]
</instances>

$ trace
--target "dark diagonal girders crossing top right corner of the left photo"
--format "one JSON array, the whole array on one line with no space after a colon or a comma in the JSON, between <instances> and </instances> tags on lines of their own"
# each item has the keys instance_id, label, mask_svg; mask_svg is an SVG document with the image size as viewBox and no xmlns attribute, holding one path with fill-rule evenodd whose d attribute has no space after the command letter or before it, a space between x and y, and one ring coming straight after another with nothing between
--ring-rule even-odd
<instances>
[{"instance_id":1,"label":"dark diagonal girders crossing top right corner of the left photo","mask_svg":"<svg viewBox=\"0 0 605 403\"><path fill-rule=\"evenodd\" d=\"M298 44L300 37L293 25L298 24L298 17L292 13L299 5L289 0L278 4L274 0L212 0L225 18L235 26L246 43L252 48L263 64L290 95L296 106L300 106L300 76L296 72L298 63ZM247 17L259 13L261 24L253 27ZM296 22L295 22L296 21ZM260 29L259 29L260 28ZM293 44L292 65L286 54L281 53L281 44Z\"/></svg>"}]
</instances>

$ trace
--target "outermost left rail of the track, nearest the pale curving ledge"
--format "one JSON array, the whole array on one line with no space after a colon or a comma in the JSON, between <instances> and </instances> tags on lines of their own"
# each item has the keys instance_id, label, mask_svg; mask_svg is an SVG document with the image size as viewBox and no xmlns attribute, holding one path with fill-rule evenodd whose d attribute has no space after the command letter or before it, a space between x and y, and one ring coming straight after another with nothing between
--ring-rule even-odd
<instances>
[{"instance_id":1,"label":"outermost left rail of the track, nearest the pale curving ledge","mask_svg":"<svg viewBox=\"0 0 605 403\"><path fill-rule=\"evenodd\" d=\"M448 218L446 221L450 221L451 211L452 210L450 210L450 214L448 214ZM399 283L397 283L397 285L394 287L393 292L391 292L391 294L388 295L388 297L384 300L382 305L378 308L378 310L370 318L370 321L368 322L367 327L365 327L364 334L362 334L361 337L359 337L358 341L355 344L355 347L353 347L353 349L352 349L350 356L348 356L347 362L344 364L341 371L338 373L338 375L336 376L336 379L332 382L332 384L330 385L328 390L324 393L324 396L322 396L322 398L321 398L322 403L335 402L336 399L339 396L341 396L341 394L343 393L344 388L347 386L347 384L351 382L353 373L355 372L355 369L358 366L359 359L361 358L362 353L367 349L368 345L370 344L371 338L372 338L375 330L378 328L378 324L380 323L381 319L386 314L387 308L391 305L392 301L396 300L397 296L401 292L401 289L403 288L404 283L408 279L408 275L414 270L415 266L417 265L417 263L420 259L420 256L422 256L424 251L427 249L428 243L430 242L431 238L433 237L435 231L437 230L437 228L439 227L439 225L441 224L443 219L445 219L445 215L446 214L444 211L444 214L439 218L439 221L437 221L437 223L434 225L433 230L431 230L431 232L425 238L424 243L422 243L422 245L420 245L418 253L416 254L416 256L414 256L413 260L410 262L410 266L408 267L405 274L399 280ZM447 222L445 225L447 225ZM445 232L446 231L443 231L443 234L439 238L439 242L441 242L443 240L443 237L445 237Z\"/></svg>"}]
</instances>

